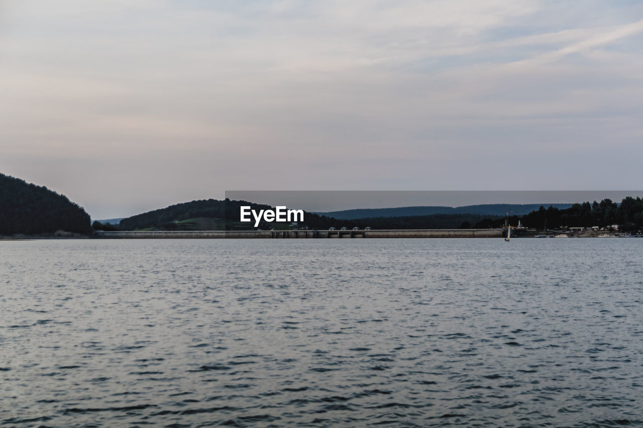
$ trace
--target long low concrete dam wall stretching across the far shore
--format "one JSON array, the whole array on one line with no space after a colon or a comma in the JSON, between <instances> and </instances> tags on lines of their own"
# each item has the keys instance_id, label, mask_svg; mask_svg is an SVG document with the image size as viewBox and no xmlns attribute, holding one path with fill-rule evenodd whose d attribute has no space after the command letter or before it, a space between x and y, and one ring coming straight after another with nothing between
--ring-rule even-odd
<instances>
[{"instance_id":1,"label":"long low concrete dam wall stretching across the far shore","mask_svg":"<svg viewBox=\"0 0 643 428\"><path fill-rule=\"evenodd\" d=\"M98 238L502 238L503 229L96 231Z\"/></svg>"}]
</instances>

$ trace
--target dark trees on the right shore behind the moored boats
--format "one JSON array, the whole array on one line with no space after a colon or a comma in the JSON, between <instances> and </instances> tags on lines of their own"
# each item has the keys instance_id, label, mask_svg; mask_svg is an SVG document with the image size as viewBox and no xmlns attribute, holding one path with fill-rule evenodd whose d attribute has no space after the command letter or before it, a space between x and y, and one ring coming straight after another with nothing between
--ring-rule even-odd
<instances>
[{"instance_id":1,"label":"dark trees on the right shore behind the moored boats","mask_svg":"<svg viewBox=\"0 0 643 428\"><path fill-rule=\"evenodd\" d=\"M619 224L626 231L643 227L643 200L640 197L626 197L620 204L611 199L603 199L574 204L566 210L541 206L538 211L524 215L521 222L536 229L556 229L557 227L606 227ZM513 225L513 223L512 223Z\"/></svg>"}]
</instances>

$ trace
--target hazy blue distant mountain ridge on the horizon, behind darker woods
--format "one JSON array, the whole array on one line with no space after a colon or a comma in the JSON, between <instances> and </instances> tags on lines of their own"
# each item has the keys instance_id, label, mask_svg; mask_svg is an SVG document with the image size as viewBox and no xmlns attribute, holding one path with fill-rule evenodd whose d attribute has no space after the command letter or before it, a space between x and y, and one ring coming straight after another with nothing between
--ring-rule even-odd
<instances>
[{"instance_id":1,"label":"hazy blue distant mountain ridge on the horizon, behind darker woods","mask_svg":"<svg viewBox=\"0 0 643 428\"><path fill-rule=\"evenodd\" d=\"M570 208L573 204L479 204L466 206L404 206L398 208L357 208L354 210L315 212L318 215L354 220L368 217L410 217L415 215L433 214L477 214L477 215L526 215L537 211L541 206L553 206L559 210Z\"/></svg>"}]
</instances>

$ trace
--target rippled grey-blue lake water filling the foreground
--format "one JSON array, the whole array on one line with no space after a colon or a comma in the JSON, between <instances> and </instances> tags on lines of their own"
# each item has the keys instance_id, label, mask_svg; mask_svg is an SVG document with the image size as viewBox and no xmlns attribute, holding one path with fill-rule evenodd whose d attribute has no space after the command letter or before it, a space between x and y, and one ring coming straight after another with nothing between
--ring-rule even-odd
<instances>
[{"instance_id":1,"label":"rippled grey-blue lake water filling the foreground","mask_svg":"<svg viewBox=\"0 0 643 428\"><path fill-rule=\"evenodd\" d=\"M643 239L0 242L0 425L643 425Z\"/></svg>"}]
</instances>

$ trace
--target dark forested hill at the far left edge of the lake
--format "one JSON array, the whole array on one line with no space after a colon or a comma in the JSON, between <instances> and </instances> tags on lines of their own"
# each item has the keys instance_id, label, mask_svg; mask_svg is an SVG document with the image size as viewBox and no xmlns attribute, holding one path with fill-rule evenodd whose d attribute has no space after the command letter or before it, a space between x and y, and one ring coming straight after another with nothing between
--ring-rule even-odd
<instances>
[{"instance_id":1,"label":"dark forested hill at the far left edge of the lake","mask_svg":"<svg viewBox=\"0 0 643 428\"><path fill-rule=\"evenodd\" d=\"M89 214L64 195L0 174L0 235L91 233Z\"/></svg>"}]
</instances>

